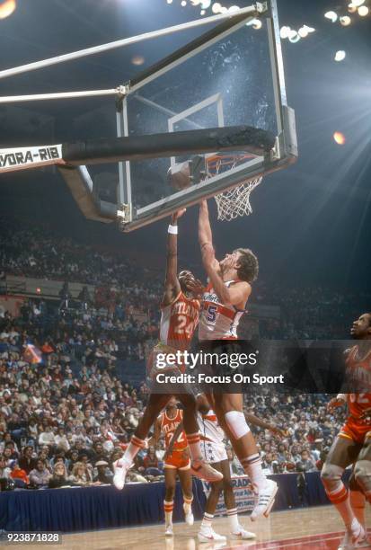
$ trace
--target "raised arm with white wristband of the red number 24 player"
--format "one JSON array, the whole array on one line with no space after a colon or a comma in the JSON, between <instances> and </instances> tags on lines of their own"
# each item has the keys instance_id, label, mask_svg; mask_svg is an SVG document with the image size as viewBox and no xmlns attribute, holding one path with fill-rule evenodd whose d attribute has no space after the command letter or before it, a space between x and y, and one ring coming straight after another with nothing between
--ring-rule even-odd
<instances>
[{"instance_id":1,"label":"raised arm with white wristband of the red number 24 player","mask_svg":"<svg viewBox=\"0 0 371 550\"><path fill-rule=\"evenodd\" d=\"M168 306L181 292L178 279L178 218L185 212L185 208L172 214L168 227L166 275L163 292L163 306Z\"/></svg>"}]
</instances>

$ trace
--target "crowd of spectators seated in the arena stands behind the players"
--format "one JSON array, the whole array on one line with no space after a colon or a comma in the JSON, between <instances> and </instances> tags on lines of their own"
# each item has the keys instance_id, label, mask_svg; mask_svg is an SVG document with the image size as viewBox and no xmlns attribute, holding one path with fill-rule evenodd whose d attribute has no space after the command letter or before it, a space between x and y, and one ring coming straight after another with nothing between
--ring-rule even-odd
<instances>
[{"instance_id":1,"label":"crowd of spectators seated in the arena stands behind the players","mask_svg":"<svg viewBox=\"0 0 371 550\"><path fill-rule=\"evenodd\" d=\"M17 316L0 312L0 479L35 488L111 483L112 462L128 445L148 394L143 380L133 384L123 379L118 365L143 363L155 343L162 280L146 273L138 280L122 254L98 253L38 229L3 229L3 277L11 273L107 285L116 294L112 307L92 304L71 311L39 298L25 301ZM273 338L284 333L329 339L335 335L329 332L330 318L344 331L362 311L359 297L344 298L322 288L291 288L285 299L279 296L272 293L268 304L281 307L282 319L264 324ZM264 288L258 287L257 303L266 299ZM147 316L139 322L133 312L144 304ZM342 410L327 412L328 399L247 397L246 412L285 430L278 438L253 428L268 474L321 468L344 416ZM129 481L157 479L163 474L163 455L163 442L141 451ZM231 449L229 456L232 471L241 473Z\"/></svg>"}]
</instances>

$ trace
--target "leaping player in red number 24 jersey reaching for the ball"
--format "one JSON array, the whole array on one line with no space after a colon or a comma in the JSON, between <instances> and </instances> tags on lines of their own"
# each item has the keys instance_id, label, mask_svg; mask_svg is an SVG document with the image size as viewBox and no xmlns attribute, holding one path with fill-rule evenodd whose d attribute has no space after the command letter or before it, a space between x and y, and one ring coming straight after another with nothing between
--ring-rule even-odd
<instances>
[{"instance_id":1,"label":"leaping player in red number 24 jersey reaching for the ball","mask_svg":"<svg viewBox=\"0 0 371 550\"><path fill-rule=\"evenodd\" d=\"M181 210L172 215L172 223L168 229L166 278L161 304L160 342L155 346L148 364L149 374L154 379L158 372L163 372L163 369L157 370L157 360L159 358L165 360L166 354L174 354L178 350L187 350L199 323L199 299L195 297L195 292L199 291L201 285L190 271L181 271L179 275L177 272L178 217L181 217L184 211ZM165 369L178 370L179 374L181 368L181 365L178 368L169 365ZM146 447L146 437L152 424L171 397L169 393L161 393L161 386L159 385L156 386L156 390L155 393L151 393L149 396L146 410L124 456L113 464L113 483L119 490L124 487L128 468L133 464L137 452ZM222 479L223 475L209 466L202 457L194 396L181 393L179 400L185 409L184 430L187 433L190 448L192 474L209 482Z\"/></svg>"}]
</instances>

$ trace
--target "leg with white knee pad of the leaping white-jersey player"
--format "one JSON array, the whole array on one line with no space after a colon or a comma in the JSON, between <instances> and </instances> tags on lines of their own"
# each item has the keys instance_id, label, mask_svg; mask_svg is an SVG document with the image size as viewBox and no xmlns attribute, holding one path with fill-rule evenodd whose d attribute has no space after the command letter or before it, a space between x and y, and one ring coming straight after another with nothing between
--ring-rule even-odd
<instances>
[{"instance_id":1,"label":"leg with white knee pad of the leaping white-jersey player","mask_svg":"<svg viewBox=\"0 0 371 550\"><path fill-rule=\"evenodd\" d=\"M254 521L262 515L268 517L278 487L277 483L267 479L262 471L261 457L243 414L243 395L215 394L214 403L217 420L231 440L234 452L258 494L251 519Z\"/></svg>"}]
</instances>

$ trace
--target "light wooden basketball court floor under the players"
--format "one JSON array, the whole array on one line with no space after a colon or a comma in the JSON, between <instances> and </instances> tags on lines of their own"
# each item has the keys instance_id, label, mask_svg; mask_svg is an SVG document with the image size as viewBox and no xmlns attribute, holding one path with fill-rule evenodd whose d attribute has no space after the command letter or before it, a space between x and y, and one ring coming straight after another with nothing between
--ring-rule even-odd
<instances>
[{"instance_id":1,"label":"light wooden basketball court floor under the players","mask_svg":"<svg viewBox=\"0 0 371 550\"><path fill-rule=\"evenodd\" d=\"M369 519L371 512L367 510L367 522ZM339 516L332 506L273 512L269 519L261 519L256 523L252 523L247 516L241 516L241 523L256 533L255 541L228 538L225 544L199 543L197 532L200 522L196 521L192 527L185 523L174 524L172 538L163 536L163 525L145 525L63 535L62 544L57 547L69 550L81 550L84 547L89 550L337 550L343 537ZM213 528L217 533L227 535L227 519L215 519ZM34 545L28 547L36 548Z\"/></svg>"}]
</instances>

